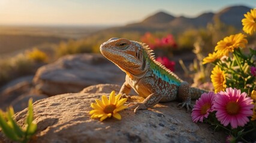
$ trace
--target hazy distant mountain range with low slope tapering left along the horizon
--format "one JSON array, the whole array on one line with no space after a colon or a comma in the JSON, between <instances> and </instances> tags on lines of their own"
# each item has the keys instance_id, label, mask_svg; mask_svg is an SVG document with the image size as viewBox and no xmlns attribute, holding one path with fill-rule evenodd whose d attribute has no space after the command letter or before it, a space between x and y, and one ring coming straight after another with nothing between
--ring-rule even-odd
<instances>
[{"instance_id":1,"label":"hazy distant mountain range with low slope tapering left along the horizon","mask_svg":"<svg viewBox=\"0 0 256 143\"><path fill-rule=\"evenodd\" d=\"M243 14L250 11L251 8L242 5L227 7L217 13L203 13L194 18L184 16L175 17L163 11L152 14L144 18L138 23L127 24L126 26L113 27L106 29L100 33L124 33L124 32L155 32L167 31L173 34L183 32L189 28L206 27L208 23L213 23L214 20L219 18L222 23L231 25L240 29L242 27L241 20Z\"/></svg>"}]
</instances>

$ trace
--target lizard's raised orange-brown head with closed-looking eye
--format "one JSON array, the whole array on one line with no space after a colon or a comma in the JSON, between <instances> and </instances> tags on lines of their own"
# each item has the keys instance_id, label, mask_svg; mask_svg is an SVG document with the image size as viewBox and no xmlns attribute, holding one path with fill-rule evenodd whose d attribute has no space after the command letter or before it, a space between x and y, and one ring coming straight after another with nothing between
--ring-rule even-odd
<instances>
[{"instance_id":1,"label":"lizard's raised orange-brown head with closed-looking eye","mask_svg":"<svg viewBox=\"0 0 256 143\"><path fill-rule=\"evenodd\" d=\"M101 44L100 51L126 73L140 75L146 70L143 47L138 42L124 38L111 38Z\"/></svg>"}]
</instances>

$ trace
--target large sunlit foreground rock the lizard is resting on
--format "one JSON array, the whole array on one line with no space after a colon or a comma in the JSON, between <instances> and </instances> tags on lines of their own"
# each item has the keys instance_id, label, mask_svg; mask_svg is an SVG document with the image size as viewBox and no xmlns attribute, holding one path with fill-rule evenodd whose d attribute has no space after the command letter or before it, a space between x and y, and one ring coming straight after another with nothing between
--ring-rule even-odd
<instances>
[{"instance_id":1,"label":"large sunlit foreground rock the lizard is resting on","mask_svg":"<svg viewBox=\"0 0 256 143\"><path fill-rule=\"evenodd\" d=\"M177 102L165 102L149 110L121 111L122 120L91 119L90 104L101 98L100 85L95 93L62 94L34 102L38 125L31 142L224 142L223 132L214 132L205 124L196 124L191 114L177 108ZM112 86L113 87L113 86ZM106 87L105 87L106 88ZM100 90L97 90L100 89ZM110 90L106 88L106 91ZM119 90L119 89L116 89ZM102 91L102 92L106 92ZM104 94L106 95L106 94ZM132 101L143 98L132 96ZM23 126L27 109L14 115ZM0 132L0 142L10 142Z\"/></svg>"}]
</instances>

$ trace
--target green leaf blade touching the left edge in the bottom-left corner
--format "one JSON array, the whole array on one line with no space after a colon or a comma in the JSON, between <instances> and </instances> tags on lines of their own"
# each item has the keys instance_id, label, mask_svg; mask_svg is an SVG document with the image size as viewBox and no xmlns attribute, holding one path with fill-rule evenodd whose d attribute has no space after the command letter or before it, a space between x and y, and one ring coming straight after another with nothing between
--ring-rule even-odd
<instances>
[{"instance_id":1,"label":"green leaf blade touching the left edge in the bottom-left corner","mask_svg":"<svg viewBox=\"0 0 256 143\"><path fill-rule=\"evenodd\" d=\"M13 129L8 126L8 123L4 119L4 113L0 110L0 127L2 128L2 131L4 132L5 136L12 139L13 141L20 141L19 137L14 133Z\"/></svg>"}]
</instances>

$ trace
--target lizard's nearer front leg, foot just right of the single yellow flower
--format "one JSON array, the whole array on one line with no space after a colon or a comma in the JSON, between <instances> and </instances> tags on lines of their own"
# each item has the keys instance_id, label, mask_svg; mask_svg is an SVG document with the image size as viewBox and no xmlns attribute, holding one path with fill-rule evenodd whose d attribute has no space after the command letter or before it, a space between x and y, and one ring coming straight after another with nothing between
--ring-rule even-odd
<instances>
[{"instance_id":1,"label":"lizard's nearer front leg, foot just right of the single yellow flower","mask_svg":"<svg viewBox=\"0 0 256 143\"><path fill-rule=\"evenodd\" d=\"M135 108L134 113L137 110L147 109L149 107L153 107L154 105L158 104L158 102L162 99L162 94L158 86L155 85L155 82L152 77L143 77L138 82L138 86L140 86L140 91L149 92L151 93L148 95L143 102L132 102L128 104L129 108Z\"/></svg>"}]
</instances>

